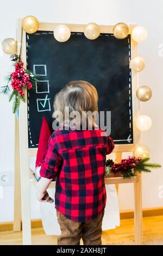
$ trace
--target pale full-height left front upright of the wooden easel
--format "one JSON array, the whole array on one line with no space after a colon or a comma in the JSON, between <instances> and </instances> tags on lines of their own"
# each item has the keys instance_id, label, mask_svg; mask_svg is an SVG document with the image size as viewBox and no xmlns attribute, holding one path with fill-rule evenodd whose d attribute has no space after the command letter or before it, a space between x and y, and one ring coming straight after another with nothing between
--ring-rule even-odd
<instances>
[{"instance_id":1,"label":"pale full-height left front upright of the wooden easel","mask_svg":"<svg viewBox=\"0 0 163 256\"><path fill-rule=\"evenodd\" d=\"M23 34L22 34L23 33ZM22 20L17 20L17 52L21 44L26 45L26 33L22 31ZM21 58L26 63L26 47L22 47ZM25 66L26 68L26 66ZM25 91L27 102L27 90ZM20 174L21 174L21 205L23 245L31 245L30 223L30 184L29 184L29 154L28 154L28 111L27 103L21 102L19 108L19 138L20 138Z\"/></svg>"}]
</instances>

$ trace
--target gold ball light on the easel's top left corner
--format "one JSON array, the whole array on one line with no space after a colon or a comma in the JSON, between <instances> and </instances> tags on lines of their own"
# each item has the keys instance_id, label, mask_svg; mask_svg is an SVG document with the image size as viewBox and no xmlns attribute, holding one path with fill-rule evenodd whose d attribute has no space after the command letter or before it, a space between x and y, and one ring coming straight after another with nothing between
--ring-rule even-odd
<instances>
[{"instance_id":1,"label":"gold ball light on the easel's top left corner","mask_svg":"<svg viewBox=\"0 0 163 256\"><path fill-rule=\"evenodd\" d=\"M34 16L24 17L22 21L22 28L24 31L26 31L26 33L33 34L39 28L39 21Z\"/></svg>"}]
</instances>

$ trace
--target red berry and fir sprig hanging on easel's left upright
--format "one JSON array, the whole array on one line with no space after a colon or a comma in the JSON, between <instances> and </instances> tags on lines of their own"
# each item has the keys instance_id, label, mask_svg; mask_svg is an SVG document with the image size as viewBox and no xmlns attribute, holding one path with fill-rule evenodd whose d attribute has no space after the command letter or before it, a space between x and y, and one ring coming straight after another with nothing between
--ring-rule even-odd
<instances>
[{"instance_id":1,"label":"red berry and fir sprig hanging on easel's left upright","mask_svg":"<svg viewBox=\"0 0 163 256\"><path fill-rule=\"evenodd\" d=\"M25 101L23 89L32 89L37 78L31 71L23 68L23 63L20 62L16 54L11 59L17 59L14 64L15 69L9 76L5 77L7 85L1 87L1 93L9 95L9 102L13 100L12 112L15 113L20 102Z\"/></svg>"}]
</instances>

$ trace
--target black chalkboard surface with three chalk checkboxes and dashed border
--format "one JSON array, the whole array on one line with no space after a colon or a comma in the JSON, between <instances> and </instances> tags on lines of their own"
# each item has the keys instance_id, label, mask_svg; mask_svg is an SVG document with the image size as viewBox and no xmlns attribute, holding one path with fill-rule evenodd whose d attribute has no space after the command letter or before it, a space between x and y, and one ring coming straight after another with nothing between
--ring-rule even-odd
<instances>
[{"instance_id":1,"label":"black chalkboard surface with three chalk checkboxes and dashed border","mask_svg":"<svg viewBox=\"0 0 163 256\"><path fill-rule=\"evenodd\" d=\"M42 117L52 127L53 100L71 80L92 83L99 95L99 111L111 111L111 134L115 144L133 143L130 35L123 40L101 34L96 40L72 33L66 42L53 32L27 34L27 68L39 76L28 92L29 148L39 141Z\"/></svg>"}]
</instances>

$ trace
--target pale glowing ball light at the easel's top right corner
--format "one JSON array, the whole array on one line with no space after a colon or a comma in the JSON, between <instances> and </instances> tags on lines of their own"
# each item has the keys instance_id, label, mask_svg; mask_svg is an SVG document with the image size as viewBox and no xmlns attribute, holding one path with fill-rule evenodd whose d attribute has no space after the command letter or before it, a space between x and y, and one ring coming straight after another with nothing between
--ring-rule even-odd
<instances>
[{"instance_id":1,"label":"pale glowing ball light at the easel's top right corner","mask_svg":"<svg viewBox=\"0 0 163 256\"><path fill-rule=\"evenodd\" d=\"M148 35L147 29L141 26L136 26L131 33L131 37L136 42L145 41L147 38L147 35Z\"/></svg>"}]
</instances>

